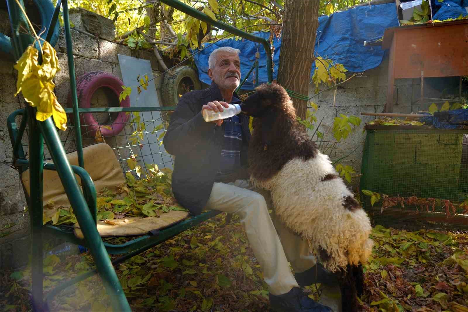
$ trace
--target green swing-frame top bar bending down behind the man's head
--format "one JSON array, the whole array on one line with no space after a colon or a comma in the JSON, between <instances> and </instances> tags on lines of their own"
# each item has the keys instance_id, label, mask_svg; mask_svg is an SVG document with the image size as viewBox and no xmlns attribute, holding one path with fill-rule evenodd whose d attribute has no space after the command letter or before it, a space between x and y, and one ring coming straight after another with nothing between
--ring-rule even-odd
<instances>
[{"instance_id":1,"label":"green swing-frame top bar bending down behind the man's head","mask_svg":"<svg viewBox=\"0 0 468 312\"><path fill-rule=\"evenodd\" d=\"M263 45L263 48L265 49L265 53L266 53L266 69L267 69L267 74L268 74L268 82L271 82L272 79L273 79L273 66L272 66L272 61L271 61L271 50L270 50L270 43L261 38L261 37L257 37L257 36L254 36L252 34L249 34L245 31L242 31L242 30L238 30L237 28L234 28L232 27L231 25L228 25L226 23L223 23L223 22L219 22L219 21L215 21L215 20L212 20L208 15L206 15L205 13L202 13L200 11L198 11L197 9L193 8L193 7L190 7L178 0L161 0L161 2L171 6L171 7L174 7L176 8L177 10L179 11L182 11L183 13L187 14L187 15L190 15L190 16L193 16L197 19L199 19L200 21L203 21L203 22L206 22L206 23L209 23L213 26L216 26L222 30L226 30L227 32L233 34L233 35L236 35L236 36L239 36L239 37L242 37L242 38L246 38L246 39L249 39L251 41L254 41L254 42L258 42L260 44Z\"/></svg>"}]
</instances>

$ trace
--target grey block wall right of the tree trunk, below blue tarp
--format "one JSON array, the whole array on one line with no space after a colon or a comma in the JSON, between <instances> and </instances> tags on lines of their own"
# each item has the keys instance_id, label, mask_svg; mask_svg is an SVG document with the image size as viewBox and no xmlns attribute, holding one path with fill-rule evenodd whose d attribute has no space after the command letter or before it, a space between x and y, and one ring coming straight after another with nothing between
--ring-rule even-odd
<instances>
[{"instance_id":1,"label":"grey block wall right of the tree trunk, below blue tarp","mask_svg":"<svg viewBox=\"0 0 468 312\"><path fill-rule=\"evenodd\" d=\"M314 96L314 86L309 89L309 97L319 106L316 112L317 125L322 120L320 132L326 134L324 141L336 141L333 137L333 122L340 114L355 115L362 119L361 126L348 138L342 139L340 143L327 154L333 161L345 157L341 162L351 165L355 173L351 185L359 185L359 174L361 170L362 150L366 133L363 127L375 117L361 116L361 112L382 112L387 100L388 84L388 57L382 60L380 66L365 71L362 75L352 78L348 82L338 85L336 90L329 89ZM425 78L424 97L439 98L446 94L458 95L458 77L454 78ZM322 86L321 89L327 87ZM430 104L412 104L421 97L421 79L397 79L395 80L393 112L410 113L427 111ZM335 96L335 104L333 98ZM441 104L438 104L439 107Z\"/></svg>"}]
</instances>

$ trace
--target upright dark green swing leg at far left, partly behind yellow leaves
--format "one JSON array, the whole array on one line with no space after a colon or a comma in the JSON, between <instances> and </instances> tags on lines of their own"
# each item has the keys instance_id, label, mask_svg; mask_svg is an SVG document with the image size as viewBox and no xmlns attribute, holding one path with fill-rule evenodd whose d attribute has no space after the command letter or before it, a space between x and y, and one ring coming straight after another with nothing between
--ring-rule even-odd
<instances>
[{"instance_id":1,"label":"upright dark green swing leg at far left, partly behind yellow leaves","mask_svg":"<svg viewBox=\"0 0 468 312\"><path fill-rule=\"evenodd\" d=\"M20 5L24 8L22 0ZM29 25L20 7L15 0L7 0L8 15L12 25L13 40L15 47L15 60L19 59L22 52L31 45L34 40L29 36ZM24 34L26 31L26 34ZM29 219L31 228L31 292L33 310L41 311L43 307L43 242L42 242L42 163L44 161L44 141L37 127L36 109L27 107L29 119L29 183L31 191L29 194ZM20 139L21 140L21 139Z\"/></svg>"}]
</instances>

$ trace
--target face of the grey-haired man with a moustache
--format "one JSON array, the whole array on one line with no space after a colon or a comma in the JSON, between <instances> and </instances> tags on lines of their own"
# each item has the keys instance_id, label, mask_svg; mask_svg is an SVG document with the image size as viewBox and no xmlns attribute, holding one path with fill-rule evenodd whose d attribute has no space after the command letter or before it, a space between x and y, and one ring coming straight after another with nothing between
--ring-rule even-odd
<instances>
[{"instance_id":1,"label":"face of the grey-haired man with a moustache","mask_svg":"<svg viewBox=\"0 0 468 312\"><path fill-rule=\"evenodd\" d=\"M208 69L208 76L219 89L234 91L241 83L241 62L237 54L220 52L215 67Z\"/></svg>"}]
</instances>

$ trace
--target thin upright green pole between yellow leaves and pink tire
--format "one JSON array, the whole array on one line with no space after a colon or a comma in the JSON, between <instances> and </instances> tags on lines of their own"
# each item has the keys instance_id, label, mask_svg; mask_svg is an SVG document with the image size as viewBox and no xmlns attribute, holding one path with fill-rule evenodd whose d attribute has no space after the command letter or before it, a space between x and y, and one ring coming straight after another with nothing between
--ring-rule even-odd
<instances>
[{"instance_id":1,"label":"thin upright green pole between yellow leaves and pink tire","mask_svg":"<svg viewBox=\"0 0 468 312\"><path fill-rule=\"evenodd\" d=\"M75 63L73 61L72 35L70 33L70 20L68 17L67 0L62 1L62 9L63 9L63 22L65 26L66 57L68 59L68 73L70 75L70 90L72 91L76 151L78 153L78 165L81 168L84 168L85 162L83 158L83 144L81 142L80 114L78 113L78 97L76 94Z\"/></svg>"}]
</instances>

